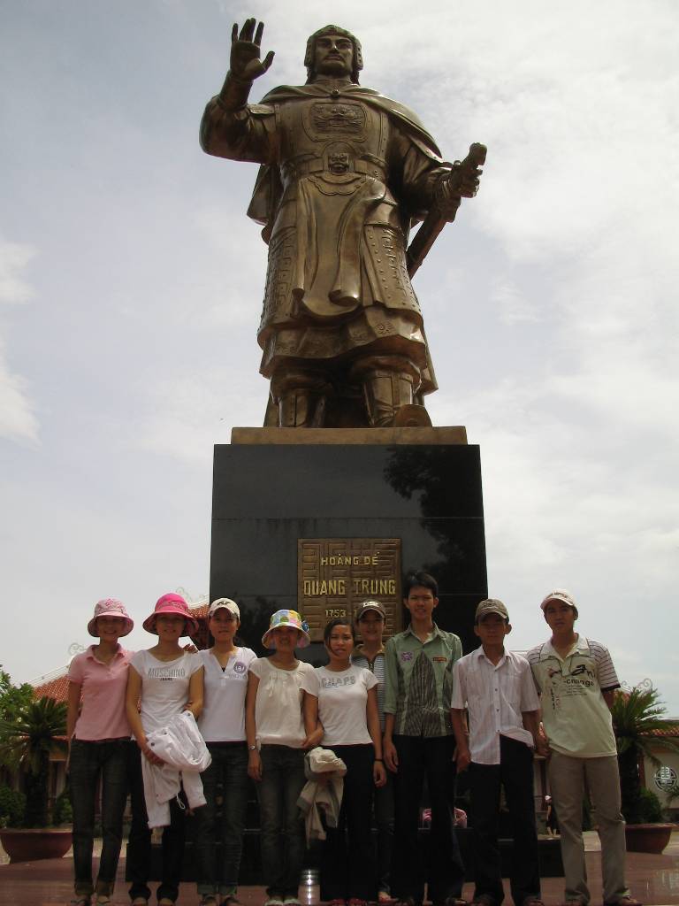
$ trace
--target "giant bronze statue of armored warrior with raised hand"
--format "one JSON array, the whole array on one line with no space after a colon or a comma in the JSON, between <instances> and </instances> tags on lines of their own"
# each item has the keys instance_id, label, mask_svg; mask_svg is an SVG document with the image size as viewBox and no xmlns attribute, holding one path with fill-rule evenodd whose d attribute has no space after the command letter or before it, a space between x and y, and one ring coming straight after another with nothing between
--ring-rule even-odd
<instances>
[{"instance_id":1,"label":"giant bronze statue of armored warrior with raised hand","mask_svg":"<svg viewBox=\"0 0 679 906\"><path fill-rule=\"evenodd\" d=\"M200 127L208 154L262 166L248 216L269 245L258 340L271 379L266 425L430 424L436 389L410 276L461 198L478 188L483 146L445 163L415 113L359 85L354 35L311 35L299 87L249 104L263 23L234 25L231 68ZM411 225L425 219L406 258Z\"/></svg>"}]
</instances>

